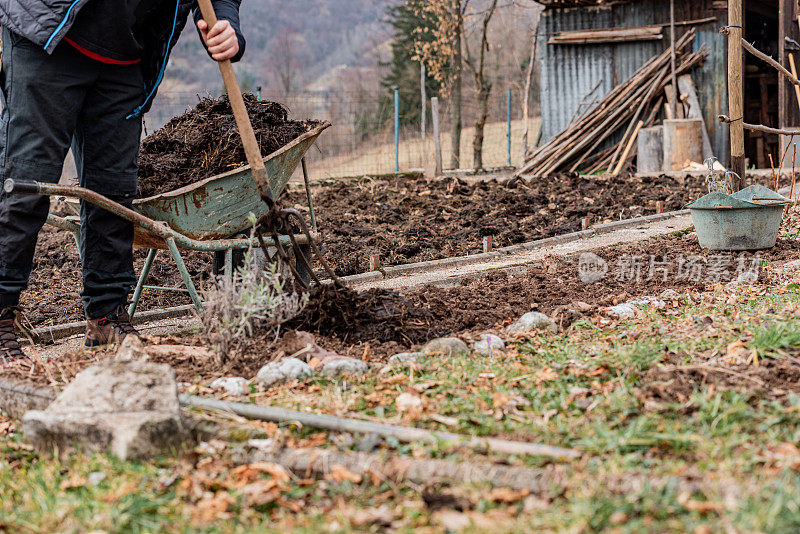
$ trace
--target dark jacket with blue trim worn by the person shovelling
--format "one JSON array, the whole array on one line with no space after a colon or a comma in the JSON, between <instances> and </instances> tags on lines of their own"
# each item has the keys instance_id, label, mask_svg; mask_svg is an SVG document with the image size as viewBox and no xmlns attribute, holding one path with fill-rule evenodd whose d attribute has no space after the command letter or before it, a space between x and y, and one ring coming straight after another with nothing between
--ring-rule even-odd
<instances>
[{"instance_id":1,"label":"dark jacket with blue trim worn by the person shovelling","mask_svg":"<svg viewBox=\"0 0 800 534\"><path fill-rule=\"evenodd\" d=\"M89 0L0 0L0 26L43 47L52 53L72 27L75 16ZM239 38L238 61L244 53L245 40L239 24L239 6L242 0L211 0L217 18L230 21ZM164 0L148 16L145 34L142 35L144 55L142 71L145 80L145 100L132 111L138 117L148 111L170 53L186 26L189 13L194 20L202 18L196 0Z\"/></svg>"}]
</instances>

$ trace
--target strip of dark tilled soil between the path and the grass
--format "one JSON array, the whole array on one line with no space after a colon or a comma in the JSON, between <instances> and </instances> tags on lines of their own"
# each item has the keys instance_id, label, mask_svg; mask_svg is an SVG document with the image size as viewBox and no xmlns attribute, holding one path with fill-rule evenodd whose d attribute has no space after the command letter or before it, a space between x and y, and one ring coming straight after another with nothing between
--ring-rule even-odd
<instances>
[{"instance_id":1,"label":"strip of dark tilled soil between the path and the grass","mask_svg":"<svg viewBox=\"0 0 800 534\"><path fill-rule=\"evenodd\" d=\"M345 290L346 298L338 301L317 295L291 326L350 343L393 342L406 348L443 335L502 327L529 311L554 316L566 327L581 316L629 298L658 296L665 289L683 293L713 282L730 282L737 277L740 265L749 269L756 257L766 261L796 259L800 257L800 242L781 239L772 250L723 255L701 249L696 235L689 233L596 253L607 262L609 271L592 284L579 277L579 257L554 257L520 274L492 271L465 278L456 287L426 286L402 298L385 291L354 294Z\"/></svg>"}]
</instances>

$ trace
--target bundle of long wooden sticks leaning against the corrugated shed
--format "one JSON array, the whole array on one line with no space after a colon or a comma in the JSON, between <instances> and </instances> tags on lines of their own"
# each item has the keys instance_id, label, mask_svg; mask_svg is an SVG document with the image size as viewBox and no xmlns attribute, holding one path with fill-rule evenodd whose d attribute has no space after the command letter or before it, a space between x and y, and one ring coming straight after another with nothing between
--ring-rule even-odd
<instances>
[{"instance_id":1,"label":"bundle of long wooden sticks leaning against the corrugated shed","mask_svg":"<svg viewBox=\"0 0 800 534\"><path fill-rule=\"evenodd\" d=\"M677 75L691 71L708 56L703 46L698 52L684 52L694 42L690 30L675 43L678 56ZM641 126L650 126L661 106L664 88L669 85L670 50L651 58L633 76L603 98L591 112L571 124L547 144L528 153L525 165L517 176L548 176L558 172L594 171L621 167L629 150L632 136ZM622 127L627 129L613 150L604 142ZM607 167L605 167L607 165Z\"/></svg>"}]
</instances>

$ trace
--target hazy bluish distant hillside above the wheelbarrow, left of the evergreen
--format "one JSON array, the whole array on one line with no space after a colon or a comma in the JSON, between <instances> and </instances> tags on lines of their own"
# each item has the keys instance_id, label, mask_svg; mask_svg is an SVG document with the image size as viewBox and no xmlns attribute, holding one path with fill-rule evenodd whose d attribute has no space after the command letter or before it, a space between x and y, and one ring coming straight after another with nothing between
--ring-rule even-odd
<instances>
[{"instance_id":1,"label":"hazy bluish distant hillside above the wheelbarrow, left of the evergreen","mask_svg":"<svg viewBox=\"0 0 800 534\"><path fill-rule=\"evenodd\" d=\"M375 66L373 51L390 37L386 8L399 0L244 0L242 28L247 54L237 67L245 88L283 84L292 78L302 90L330 71ZM167 91L221 88L219 71L209 61L196 32L186 31L173 55ZM315 87L318 89L318 87Z\"/></svg>"}]
</instances>

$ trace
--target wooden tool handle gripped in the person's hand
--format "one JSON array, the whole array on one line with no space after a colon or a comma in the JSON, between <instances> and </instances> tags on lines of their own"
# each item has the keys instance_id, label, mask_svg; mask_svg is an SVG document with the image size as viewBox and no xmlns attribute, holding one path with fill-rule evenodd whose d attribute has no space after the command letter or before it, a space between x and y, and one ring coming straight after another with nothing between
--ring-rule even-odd
<instances>
[{"instance_id":1,"label":"wooden tool handle gripped in the person's hand","mask_svg":"<svg viewBox=\"0 0 800 534\"><path fill-rule=\"evenodd\" d=\"M211 0L197 0L200 11L203 13L203 20L208 24L208 29L217 23L217 14ZM267 179L267 170L264 167L264 160L261 158L261 148L258 146L256 134L253 132L253 125L247 114L247 107L244 105L242 91L239 89L239 82L233 72L233 65L230 60L219 61L219 70L222 73L222 81L225 82L225 90L228 92L228 99L233 108L233 116L236 118L236 125L239 127L239 135L242 137L244 153L247 156L247 163L253 173L253 179L258 186L261 197L272 207L275 199L272 196L272 189Z\"/></svg>"}]
</instances>

